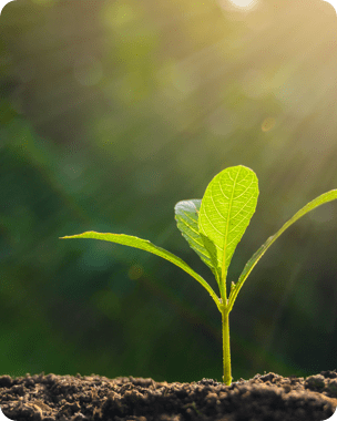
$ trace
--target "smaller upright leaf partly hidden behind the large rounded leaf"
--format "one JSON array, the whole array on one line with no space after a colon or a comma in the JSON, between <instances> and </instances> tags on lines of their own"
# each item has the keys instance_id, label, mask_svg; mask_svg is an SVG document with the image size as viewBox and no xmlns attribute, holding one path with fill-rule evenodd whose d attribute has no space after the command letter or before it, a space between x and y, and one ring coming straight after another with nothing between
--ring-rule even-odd
<instances>
[{"instance_id":1,"label":"smaller upright leaf partly hidden behind the large rounded leaf","mask_svg":"<svg viewBox=\"0 0 337 421\"><path fill-rule=\"evenodd\" d=\"M219 273L216 270L216 260L210 255L204 246L203 238L198 233L198 212L202 199L181 201L174 206L176 226L188 245L200 256L200 258L211 268L216 280L219 280Z\"/></svg>"}]
</instances>

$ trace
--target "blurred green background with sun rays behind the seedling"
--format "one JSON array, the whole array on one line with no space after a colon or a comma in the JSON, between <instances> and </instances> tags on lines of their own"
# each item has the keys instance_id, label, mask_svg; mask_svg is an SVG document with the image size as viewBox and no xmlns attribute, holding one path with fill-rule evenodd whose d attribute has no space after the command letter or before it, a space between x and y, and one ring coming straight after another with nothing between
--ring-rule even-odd
<instances>
[{"instance_id":1,"label":"blurred green background with sun rays behind the seedling","mask_svg":"<svg viewBox=\"0 0 337 421\"><path fill-rule=\"evenodd\" d=\"M7 3L7 4L6 4ZM174 205L246 165L233 257L337 188L337 14L324 0L14 0L0 16L0 373L222 380L221 315L150 239L211 270ZM270 247L231 312L234 380L337 368L337 203Z\"/></svg>"}]
</instances>

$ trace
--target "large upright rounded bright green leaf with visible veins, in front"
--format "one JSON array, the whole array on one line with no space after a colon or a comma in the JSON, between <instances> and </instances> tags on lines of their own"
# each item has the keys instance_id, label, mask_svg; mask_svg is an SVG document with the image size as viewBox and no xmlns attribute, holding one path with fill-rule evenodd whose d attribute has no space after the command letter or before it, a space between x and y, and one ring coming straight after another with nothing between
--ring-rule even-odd
<instances>
[{"instance_id":1,"label":"large upright rounded bright green leaf with visible veins, in front","mask_svg":"<svg viewBox=\"0 0 337 421\"><path fill-rule=\"evenodd\" d=\"M217 261L217 271L222 274L222 298L225 295L228 266L255 212L257 197L256 174L238 165L218 173L208 184L202 199L198 230L201 236L204 235L205 248Z\"/></svg>"}]
</instances>

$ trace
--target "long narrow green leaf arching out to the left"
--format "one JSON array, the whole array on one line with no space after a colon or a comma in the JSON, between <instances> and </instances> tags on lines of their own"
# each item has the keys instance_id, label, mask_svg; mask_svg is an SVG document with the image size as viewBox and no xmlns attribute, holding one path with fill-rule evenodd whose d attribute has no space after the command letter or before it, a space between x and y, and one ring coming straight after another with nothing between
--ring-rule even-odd
<instances>
[{"instance_id":1,"label":"long narrow green leaf arching out to the left","mask_svg":"<svg viewBox=\"0 0 337 421\"><path fill-rule=\"evenodd\" d=\"M110 234L110 233L95 233L95 232L86 232L83 234L76 234L76 235L71 235L71 236L65 236L65 237L60 237L60 238L95 238L95 239L102 239L105 242L111 242L111 243L118 243L122 244L124 246L130 246L134 248L140 248L145 251L150 251L154 255L161 256L164 259L173 263L174 265L178 266L183 270L185 270L187 274L193 276L211 295L211 297L214 299L217 308L221 311L221 301L212 287L206 283L204 278L202 278L196 271L194 271L184 260L182 260L180 257L173 255L172 253L165 250L162 247L157 247L147 239L142 239L139 237L133 237L131 235L126 234Z\"/></svg>"}]
</instances>

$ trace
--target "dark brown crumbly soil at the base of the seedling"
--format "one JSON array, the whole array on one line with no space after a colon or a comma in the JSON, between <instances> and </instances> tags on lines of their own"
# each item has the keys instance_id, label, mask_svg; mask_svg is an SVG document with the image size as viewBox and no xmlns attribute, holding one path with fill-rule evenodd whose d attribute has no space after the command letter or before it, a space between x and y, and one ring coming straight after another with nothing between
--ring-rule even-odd
<instances>
[{"instance_id":1,"label":"dark brown crumbly soil at the base of the seedling","mask_svg":"<svg viewBox=\"0 0 337 421\"><path fill-rule=\"evenodd\" d=\"M318 421L337 408L337 372L273 372L231 387L101 376L0 377L0 405L12 421Z\"/></svg>"}]
</instances>

